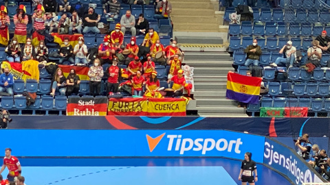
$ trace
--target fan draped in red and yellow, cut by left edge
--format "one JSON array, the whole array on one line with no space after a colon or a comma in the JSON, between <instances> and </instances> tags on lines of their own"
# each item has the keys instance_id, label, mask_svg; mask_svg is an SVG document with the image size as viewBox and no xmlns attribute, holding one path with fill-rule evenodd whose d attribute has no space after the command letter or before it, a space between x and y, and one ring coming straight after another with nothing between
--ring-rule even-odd
<instances>
[{"instance_id":1,"label":"fan draped in red and yellow, cut by left edge","mask_svg":"<svg viewBox=\"0 0 330 185\"><path fill-rule=\"evenodd\" d=\"M1 5L0 7L0 45L8 46L10 19L8 16L7 7Z\"/></svg>"}]
</instances>

